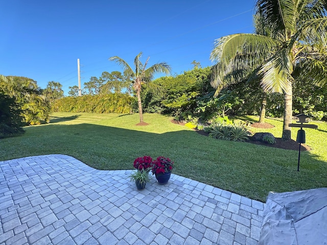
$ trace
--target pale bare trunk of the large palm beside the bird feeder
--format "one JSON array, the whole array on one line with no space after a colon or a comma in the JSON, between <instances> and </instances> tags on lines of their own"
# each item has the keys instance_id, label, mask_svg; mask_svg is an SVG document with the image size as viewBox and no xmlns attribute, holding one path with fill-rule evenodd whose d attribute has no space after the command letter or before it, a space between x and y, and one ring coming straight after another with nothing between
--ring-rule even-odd
<instances>
[{"instance_id":1,"label":"pale bare trunk of the large palm beside the bird feeder","mask_svg":"<svg viewBox=\"0 0 327 245\"><path fill-rule=\"evenodd\" d=\"M291 140L291 127L292 123L292 84L287 85L284 92L284 124L282 138L285 141Z\"/></svg>"}]
</instances>

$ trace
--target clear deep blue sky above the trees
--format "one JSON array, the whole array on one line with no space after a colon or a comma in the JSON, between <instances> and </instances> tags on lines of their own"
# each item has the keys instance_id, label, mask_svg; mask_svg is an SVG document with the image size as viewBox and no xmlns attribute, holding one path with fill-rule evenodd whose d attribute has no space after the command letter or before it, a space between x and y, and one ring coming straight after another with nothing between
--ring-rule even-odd
<instances>
[{"instance_id":1,"label":"clear deep blue sky above the trees","mask_svg":"<svg viewBox=\"0 0 327 245\"><path fill-rule=\"evenodd\" d=\"M65 95L103 71L122 69L143 52L149 65L167 62L172 75L202 67L215 39L253 32L252 0L10 0L0 1L0 74L24 76L45 88L60 82Z\"/></svg>"}]
</instances>

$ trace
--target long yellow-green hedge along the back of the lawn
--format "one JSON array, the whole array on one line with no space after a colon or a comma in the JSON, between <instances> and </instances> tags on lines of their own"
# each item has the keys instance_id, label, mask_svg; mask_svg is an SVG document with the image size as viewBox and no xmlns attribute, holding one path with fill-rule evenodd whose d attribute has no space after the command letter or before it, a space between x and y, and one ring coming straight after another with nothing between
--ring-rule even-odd
<instances>
[{"instance_id":1,"label":"long yellow-green hedge along the back of the lawn","mask_svg":"<svg viewBox=\"0 0 327 245\"><path fill-rule=\"evenodd\" d=\"M128 94L68 96L57 100L55 112L130 113L134 98Z\"/></svg>"}]
</instances>

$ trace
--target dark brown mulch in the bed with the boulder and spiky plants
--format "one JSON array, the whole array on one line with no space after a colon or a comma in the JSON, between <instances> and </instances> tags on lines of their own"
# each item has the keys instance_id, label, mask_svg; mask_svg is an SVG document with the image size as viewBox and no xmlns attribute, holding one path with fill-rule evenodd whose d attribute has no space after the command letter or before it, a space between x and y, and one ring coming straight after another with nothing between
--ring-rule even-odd
<instances>
[{"instance_id":1,"label":"dark brown mulch in the bed with the boulder and spiky plants","mask_svg":"<svg viewBox=\"0 0 327 245\"><path fill-rule=\"evenodd\" d=\"M204 136L208 136L209 134L207 132L204 132L203 130L197 130L196 131L198 134L204 135ZM284 141L282 138L275 138L276 139L276 143L274 144L268 144L265 142L261 142L261 141L254 141L254 140L250 140L248 141L249 143L252 144L260 144L260 145L266 145L269 147L274 147L274 148L280 148L280 149L285 149L285 150L294 150L294 151L298 151L299 149L299 143L297 143L295 140L290 140L290 141ZM310 151L311 148L306 145L306 144L301 144L301 151Z\"/></svg>"}]
</instances>

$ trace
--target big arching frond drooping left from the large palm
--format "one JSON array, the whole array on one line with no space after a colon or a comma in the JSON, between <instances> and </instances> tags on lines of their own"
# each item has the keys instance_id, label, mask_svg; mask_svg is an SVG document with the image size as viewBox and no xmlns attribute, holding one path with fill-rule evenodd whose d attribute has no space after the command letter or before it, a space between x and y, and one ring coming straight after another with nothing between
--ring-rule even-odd
<instances>
[{"instance_id":1,"label":"big arching frond drooping left from the large palm","mask_svg":"<svg viewBox=\"0 0 327 245\"><path fill-rule=\"evenodd\" d=\"M211 59L213 66L211 85L215 96L230 84L247 79L268 59L277 43L270 37L256 34L235 34L217 39Z\"/></svg>"}]
</instances>

